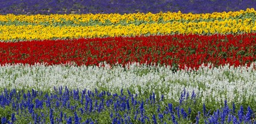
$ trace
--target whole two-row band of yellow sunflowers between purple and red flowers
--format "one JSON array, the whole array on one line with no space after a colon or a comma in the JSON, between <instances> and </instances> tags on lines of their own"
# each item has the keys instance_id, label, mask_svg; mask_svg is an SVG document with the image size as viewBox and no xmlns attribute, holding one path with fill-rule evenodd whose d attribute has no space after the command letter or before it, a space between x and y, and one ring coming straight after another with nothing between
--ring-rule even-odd
<instances>
[{"instance_id":1,"label":"whole two-row band of yellow sunflowers between purple and red flowers","mask_svg":"<svg viewBox=\"0 0 256 124\"><path fill-rule=\"evenodd\" d=\"M256 31L255 10L213 14L3 15L1 41Z\"/></svg>"}]
</instances>

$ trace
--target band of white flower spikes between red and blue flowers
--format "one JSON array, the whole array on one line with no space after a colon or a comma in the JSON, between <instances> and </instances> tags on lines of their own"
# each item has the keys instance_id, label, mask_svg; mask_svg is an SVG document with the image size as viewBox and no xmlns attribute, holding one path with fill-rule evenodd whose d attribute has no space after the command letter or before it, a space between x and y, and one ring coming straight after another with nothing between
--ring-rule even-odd
<instances>
[{"instance_id":1,"label":"band of white flower spikes between red and blue flowers","mask_svg":"<svg viewBox=\"0 0 256 124\"><path fill-rule=\"evenodd\" d=\"M106 63L105 63L106 64ZM171 67L147 66L138 63L126 67L73 66L44 64L0 66L0 88L53 90L67 86L71 89L104 89L111 92L131 89L137 94L160 93L179 101L184 88L190 95L195 91L202 102L242 102L256 95L256 71L250 67L229 65L197 71L186 69L173 73ZM159 96L157 96L159 97Z\"/></svg>"}]
</instances>

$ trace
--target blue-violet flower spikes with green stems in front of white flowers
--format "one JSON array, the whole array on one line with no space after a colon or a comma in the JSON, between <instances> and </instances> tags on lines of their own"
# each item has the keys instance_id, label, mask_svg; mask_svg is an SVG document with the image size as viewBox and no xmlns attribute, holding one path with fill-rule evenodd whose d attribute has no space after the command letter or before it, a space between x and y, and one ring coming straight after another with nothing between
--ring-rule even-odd
<instances>
[{"instance_id":1,"label":"blue-violet flower spikes with green stems in front of white flowers","mask_svg":"<svg viewBox=\"0 0 256 124\"><path fill-rule=\"evenodd\" d=\"M197 94L188 95L186 89L179 102L129 90L111 94L59 87L51 93L33 89L1 92L1 123L255 123L255 110L248 105L225 101L222 107L212 108L198 103Z\"/></svg>"}]
</instances>

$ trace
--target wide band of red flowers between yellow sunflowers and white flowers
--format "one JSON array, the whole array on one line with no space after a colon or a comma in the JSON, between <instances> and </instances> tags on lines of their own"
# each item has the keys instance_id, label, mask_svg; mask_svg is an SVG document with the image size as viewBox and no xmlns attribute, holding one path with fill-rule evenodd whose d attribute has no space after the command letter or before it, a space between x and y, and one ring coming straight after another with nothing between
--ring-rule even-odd
<instances>
[{"instance_id":1,"label":"wide band of red flowers between yellow sunflowers and white flowers","mask_svg":"<svg viewBox=\"0 0 256 124\"><path fill-rule=\"evenodd\" d=\"M202 63L214 66L245 65L256 60L256 34L164 35L57 41L1 42L0 64L75 62L77 65L111 65L129 62L158 63L192 68Z\"/></svg>"}]
</instances>

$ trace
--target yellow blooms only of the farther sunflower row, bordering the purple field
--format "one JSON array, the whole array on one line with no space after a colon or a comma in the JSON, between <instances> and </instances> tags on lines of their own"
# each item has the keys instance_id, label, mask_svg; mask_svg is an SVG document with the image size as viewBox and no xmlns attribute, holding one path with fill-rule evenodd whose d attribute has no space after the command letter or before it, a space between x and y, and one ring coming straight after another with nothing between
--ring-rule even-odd
<instances>
[{"instance_id":1,"label":"yellow blooms only of the farther sunflower row, bordering the purple field","mask_svg":"<svg viewBox=\"0 0 256 124\"><path fill-rule=\"evenodd\" d=\"M256 11L251 9L240 10L240 11L229 11L228 13L206 13L206 14L182 14L180 11L178 13L137 13L137 14L51 14L51 15L0 15L0 21L20 21L20 22L29 22L29 23L40 23L40 22L49 22L50 24L55 22L63 22L65 21L73 21L78 24L81 22L89 22L90 20L97 20L99 22L105 23L106 20L111 21L111 23L119 23L120 21L133 22L135 20L138 21L147 21L150 20L158 22L159 18L163 18L163 21L179 21L181 19L185 19L187 21L199 20L199 19L227 19L229 17L237 17L239 15L243 15L245 13L256 13Z\"/></svg>"}]
</instances>

